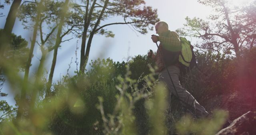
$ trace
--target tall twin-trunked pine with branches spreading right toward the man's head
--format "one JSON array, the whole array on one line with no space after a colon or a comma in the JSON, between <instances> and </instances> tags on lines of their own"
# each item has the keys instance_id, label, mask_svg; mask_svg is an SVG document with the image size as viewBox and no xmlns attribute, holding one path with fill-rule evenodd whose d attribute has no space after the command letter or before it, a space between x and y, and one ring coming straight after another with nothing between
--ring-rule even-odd
<instances>
[{"instance_id":1,"label":"tall twin-trunked pine with branches spreading right toward the man's head","mask_svg":"<svg viewBox=\"0 0 256 135\"><path fill-rule=\"evenodd\" d=\"M80 56L80 71L84 72L88 62L92 39L95 34L105 35L106 37L114 37L113 32L106 29L107 26L116 24L127 24L132 26L141 34L150 30L150 24L159 21L157 18L157 10L145 6L144 0L83 0L84 5L77 4L78 7L84 8L84 26L82 30L82 44ZM104 24L104 20L111 17L121 16L123 22L113 22ZM88 38L88 41L86 41ZM86 45L87 42L87 45Z\"/></svg>"}]
</instances>

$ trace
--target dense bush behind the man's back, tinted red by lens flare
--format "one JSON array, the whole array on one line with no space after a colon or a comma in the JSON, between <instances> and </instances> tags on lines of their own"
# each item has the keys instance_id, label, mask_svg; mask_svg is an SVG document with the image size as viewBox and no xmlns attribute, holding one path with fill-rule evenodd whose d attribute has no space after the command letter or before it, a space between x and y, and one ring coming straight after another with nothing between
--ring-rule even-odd
<instances>
[{"instance_id":1,"label":"dense bush behind the man's back, tinted red by lens flare","mask_svg":"<svg viewBox=\"0 0 256 135\"><path fill-rule=\"evenodd\" d=\"M231 119L239 117L256 107L253 99L255 53L255 48L244 49L241 58L232 58L212 52L197 52L201 71L192 69L181 77L181 83L206 110L226 109L230 111Z\"/></svg>"}]
</instances>

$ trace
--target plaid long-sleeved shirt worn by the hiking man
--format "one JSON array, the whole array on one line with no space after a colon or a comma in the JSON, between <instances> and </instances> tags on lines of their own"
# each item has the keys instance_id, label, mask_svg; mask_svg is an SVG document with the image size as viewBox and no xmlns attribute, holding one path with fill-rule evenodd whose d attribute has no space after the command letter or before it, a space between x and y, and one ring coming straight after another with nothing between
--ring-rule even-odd
<instances>
[{"instance_id":1,"label":"plaid long-sleeved shirt worn by the hiking man","mask_svg":"<svg viewBox=\"0 0 256 135\"><path fill-rule=\"evenodd\" d=\"M170 30L166 32L163 36L158 36L158 40L160 41L159 48L156 51L156 56L152 54L152 59L156 61L156 65L158 66L158 72L162 71L164 66L164 60L162 59L162 56L160 52L162 52L162 48L170 51L181 51L180 46L180 37L176 32L171 32ZM160 50L160 51L159 51ZM174 64L176 66L179 66L179 64Z\"/></svg>"}]
</instances>

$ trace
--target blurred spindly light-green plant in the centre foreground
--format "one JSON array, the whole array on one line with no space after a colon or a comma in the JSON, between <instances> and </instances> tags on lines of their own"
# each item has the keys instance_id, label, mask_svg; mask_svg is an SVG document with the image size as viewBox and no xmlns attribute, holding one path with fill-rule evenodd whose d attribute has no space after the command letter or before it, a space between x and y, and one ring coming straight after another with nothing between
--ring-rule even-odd
<instances>
[{"instance_id":1,"label":"blurred spindly light-green plant in the centre foreground","mask_svg":"<svg viewBox=\"0 0 256 135\"><path fill-rule=\"evenodd\" d=\"M152 95L152 87L156 85L156 79L153 74L149 74L144 79L147 80L141 89L138 89L138 81L131 79L131 71L126 66L127 73L122 78L118 77L120 84L116 85L119 93L116 95L117 103L111 114L105 114L102 97L98 97L100 104L98 109L101 112L104 134L106 135L136 135L138 134L135 116L133 113L134 104L143 98L149 98ZM142 79L142 78L140 78ZM128 89L131 89L128 91Z\"/></svg>"}]
</instances>

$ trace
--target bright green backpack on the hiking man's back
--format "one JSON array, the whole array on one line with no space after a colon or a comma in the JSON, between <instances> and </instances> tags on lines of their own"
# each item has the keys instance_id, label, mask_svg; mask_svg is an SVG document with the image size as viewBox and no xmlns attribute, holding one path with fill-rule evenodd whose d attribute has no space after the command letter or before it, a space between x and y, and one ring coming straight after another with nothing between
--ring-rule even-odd
<instances>
[{"instance_id":1,"label":"bright green backpack on the hiking man's back","mask_svg":"<svg viewBox=\"0 0 256 135\"><path fill-rule=\"evenodd\" d=\"M192 69L196 66L196 55L193 51L193 46L190 41L186 38L180 37L180 44L182 46L182 50L179 56L179 62L185 69Z\"/></svg>"}]
</instances>

